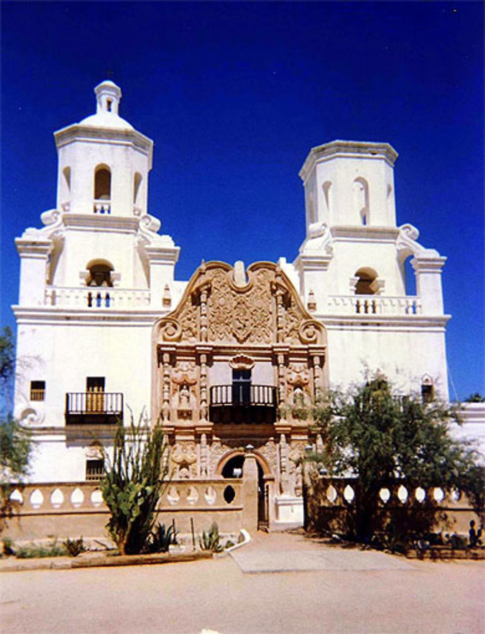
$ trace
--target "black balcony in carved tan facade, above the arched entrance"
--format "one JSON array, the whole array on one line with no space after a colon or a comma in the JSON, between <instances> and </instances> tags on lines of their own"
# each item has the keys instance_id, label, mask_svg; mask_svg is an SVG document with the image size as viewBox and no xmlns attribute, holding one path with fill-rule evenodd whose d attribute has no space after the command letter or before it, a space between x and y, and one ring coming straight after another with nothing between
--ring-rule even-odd
<instances>
[{"instance_id":1,"label":"black balcony in carved tan facade, above the arched entrance","mask_svg":"<svg viewBox=\"0 0 485 634\"><path fill-rule=\"evenodd\" d=\"M212 385L210 420L214 423L274 423L276 387L273 385Z\"/></svg>"}]
</instances>

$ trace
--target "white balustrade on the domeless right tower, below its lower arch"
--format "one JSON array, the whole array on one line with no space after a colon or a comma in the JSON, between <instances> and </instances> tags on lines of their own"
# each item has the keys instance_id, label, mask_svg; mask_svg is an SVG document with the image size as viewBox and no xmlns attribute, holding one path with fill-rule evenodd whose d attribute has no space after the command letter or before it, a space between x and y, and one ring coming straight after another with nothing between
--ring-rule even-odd
<instances>
[{"instance_id":1,"label":"white balustrade on the domeless right tower, below its lower arch","mask_svg":"<svg viewBox=\"0 0 485 634\"><path fill-rule=\"evenodd\" d=\"M328 313L345 315L417 315L422 314L419 297L402 295L330 295Z\"/></svg>"}]
</instances>

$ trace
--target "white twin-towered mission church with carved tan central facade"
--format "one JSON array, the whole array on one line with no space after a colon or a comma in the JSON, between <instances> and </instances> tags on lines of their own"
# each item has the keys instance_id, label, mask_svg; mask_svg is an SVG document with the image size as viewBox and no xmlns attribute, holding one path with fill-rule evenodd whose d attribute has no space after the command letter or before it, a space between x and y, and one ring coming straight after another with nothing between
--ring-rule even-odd
<instances>
[{"instance_id":1,"label":"white twin-towered mission church with carved tan central facade","mask_svg":"<svg viewBox=\"0 0 485 634\"><path fill-rule=\"evenodd\" d=\"M298 458L321 444L301 406L319 389L358 382L366 365L401 392L448 399L446 258L396 221L398 155L312 148L293 262L202 262L177 280L180 247L147 209L153 142L120 117L118 86L94 91L96 113L55 133L56 209L15 241L15 416L36 441L31 481L96 481L115 422L146 408L176 479L237 476L251 444L271 514L297 519Z\"/></svg>"}]
</instances>

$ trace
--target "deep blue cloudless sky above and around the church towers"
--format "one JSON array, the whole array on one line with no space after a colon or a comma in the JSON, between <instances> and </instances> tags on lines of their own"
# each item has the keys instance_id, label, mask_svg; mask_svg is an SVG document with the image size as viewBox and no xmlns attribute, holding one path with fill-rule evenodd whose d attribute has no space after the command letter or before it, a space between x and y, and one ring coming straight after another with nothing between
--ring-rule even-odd
<instances>
[{"instance_id":1,"label":"deep blue cloudless sky above and around the church towers","mask_svg":"<svg viewBox=\"0 0 485 634\"><path fill-rule=\"evenodd\" d=\"M448 362L484 387L482 3L2 4L2 324L13 238L55 205L52 133L94 112L113 70L120 114L155 141L150 212L202 258L294 259L299 168L333 139L389 141L398 223L448 256ZM454 395L451 387L451 396Z\"/></svg>"}]
</instances>

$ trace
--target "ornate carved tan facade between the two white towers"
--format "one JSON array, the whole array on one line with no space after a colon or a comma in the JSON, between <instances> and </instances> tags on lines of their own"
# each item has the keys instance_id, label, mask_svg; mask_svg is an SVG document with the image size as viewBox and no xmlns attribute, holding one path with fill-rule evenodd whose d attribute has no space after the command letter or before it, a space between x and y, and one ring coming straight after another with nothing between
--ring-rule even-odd
<instances>
[{"instance_id":1,"label":"ornate carved tan facade between the two white towers","mask_svg":"<svg viewBox=\"0 0 485 634\"><path fill-rule=\"evenodd\" d=\"M327 382L327 338L280 267L202 263L154 340L152 414L171 436L178 477L221 475L226 457L252 444L276 491L301 495L299 458L314 443L306 408Z\"/></svg>"}]
</instances>

